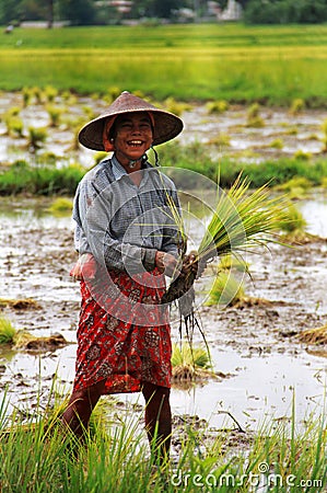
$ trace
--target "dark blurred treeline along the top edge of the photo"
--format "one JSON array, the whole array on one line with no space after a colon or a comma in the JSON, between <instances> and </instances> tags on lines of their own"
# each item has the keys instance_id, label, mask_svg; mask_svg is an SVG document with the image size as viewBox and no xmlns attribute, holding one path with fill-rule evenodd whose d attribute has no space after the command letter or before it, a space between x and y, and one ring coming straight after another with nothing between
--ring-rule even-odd
<instances>
[{"instance_id":1,"label":"dark blurred treeline along the top edge of the photo","mask_svg":"<svg viewBox=\"0 0 327 493\"><path fill-rule=\"evenodd\" d=\"M249 24L324 23L326 0L236 0ZM130 20L197 22L217 19L227 0L138 0L114 2L96 0L0 0L0 24L19 25L23 21L55 21L71 25L120 24Z\"/></svg>"}]
</instances>

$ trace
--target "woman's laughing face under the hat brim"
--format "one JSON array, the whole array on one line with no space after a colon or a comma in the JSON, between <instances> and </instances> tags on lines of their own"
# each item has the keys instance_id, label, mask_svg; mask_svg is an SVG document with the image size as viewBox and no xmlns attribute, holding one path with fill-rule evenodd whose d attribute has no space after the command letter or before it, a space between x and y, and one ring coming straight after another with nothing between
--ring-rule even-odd
<instances>
[{"instance_id":1,"label":"woman's laughing face under the hat brim","mask_svg":"<svg viewBox=\"0 0 327 493\"><path fill-rule=\"evenodd\" d=\"M117 116L114 146L121 164L140 159L151 147L152 140L152 126L145 112Z\"/></svg>"}]
</instances>

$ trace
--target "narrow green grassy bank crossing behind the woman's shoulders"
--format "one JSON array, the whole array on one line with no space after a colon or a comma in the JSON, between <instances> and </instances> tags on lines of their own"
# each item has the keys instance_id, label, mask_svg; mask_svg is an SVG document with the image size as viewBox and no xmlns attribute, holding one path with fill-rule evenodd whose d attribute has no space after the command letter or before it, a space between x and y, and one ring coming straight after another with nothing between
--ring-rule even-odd
<instances>
[{"instance_id":1,"label":"narrow green grassy bank crossing behind the woman's shoulders","mask_svg":"<svg viewBox=\"0 0 327 493\"><path fill-rule=\"evenodd\" d=\"M176 142L164 145L160 149L160 159L162 165L168 168L167 174L175 181L176 186L183 190L197 188L199 186L199 174L213 182L217 182L218 176L220 176L220 185L223 188L229 188L241 172L248 176L250 186L254 188L262 186L267 182L270 182L272 187L281 184L289 186L292 183L299 185L307 182L312 186L324 186L327 175L327 160L324 158L308 161L283 158L264 161L259 165L242 163L226 158L213 161L208 147L198 142L187 146L180 146ZM39 158L36 157L36 163L33 164L16 161L0 171L0 195L30 193L71 196L86 172L79 164L56 169L51 163L51 157L47 158L48 163L45 164L39 164L38 160ZM179 169L191 170L195 173L180 173Z\"/></svg>"}]
</instances>

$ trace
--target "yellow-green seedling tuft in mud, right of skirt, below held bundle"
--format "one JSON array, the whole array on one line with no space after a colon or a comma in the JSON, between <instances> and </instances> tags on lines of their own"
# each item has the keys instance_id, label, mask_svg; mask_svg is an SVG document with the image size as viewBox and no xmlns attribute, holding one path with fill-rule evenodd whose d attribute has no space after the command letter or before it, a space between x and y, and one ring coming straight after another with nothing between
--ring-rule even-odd
<instances>
[{"instance_id":1,"label":"yellow-green seedling tuft in mud, right of skirt, below held bundle","mask_svg":"<svg viewBox=\"0 0 327 493\"><path fill-rule=\"evenodd\" d=\"M206 301L208 307L223 305L233 307L245 297L244 284L232 275L231 272L220 272L211 287L209 299Z\"/></svg>"}]
</instances>

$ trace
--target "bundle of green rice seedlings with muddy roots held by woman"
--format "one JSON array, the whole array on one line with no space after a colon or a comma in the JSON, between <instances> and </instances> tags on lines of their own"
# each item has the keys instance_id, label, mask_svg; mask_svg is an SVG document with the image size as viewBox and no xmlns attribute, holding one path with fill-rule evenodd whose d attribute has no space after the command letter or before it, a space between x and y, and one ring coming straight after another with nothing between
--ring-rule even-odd
<instances>
[{"instance_id":1,"label":"bundle of green rice seedlings with muddy roots held by woman","mask_svg":"<svg viewBox=\"0 0 327 493\"><path fill-rule=\"evenodd\" d=\"M187 317L192 311L194 282L208 262L227 254L240 259L249 249L278 242L277 231L287 217L284 198L271 198L267 184L249 193L249 184L240 175L227 193L219 188L218 204L199 249L185 255L180 274L171 283L162 303L178 299L180 312Z\"/></svg>"}]
</instances>

